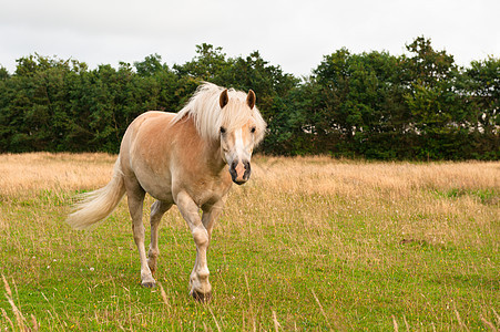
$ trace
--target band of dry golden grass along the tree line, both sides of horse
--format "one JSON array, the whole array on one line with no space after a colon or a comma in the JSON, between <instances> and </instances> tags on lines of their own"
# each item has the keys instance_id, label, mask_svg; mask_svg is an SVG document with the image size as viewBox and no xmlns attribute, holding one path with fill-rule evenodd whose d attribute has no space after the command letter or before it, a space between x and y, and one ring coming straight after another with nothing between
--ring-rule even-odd
<instances>
[{"instance_id":1,"label":"band of dry golden grass along the tree line, both sides of horse","mask_svg":"<svg viewBox=\"0 0 500 332\"><path fill-rule=\"evenodd\" d=\"M0 195L105 185L116 156L106 154L0 155ZM253 179L284 193L366 195L416 189L500 188L500 163L364 163L329 157L254 157Z\"/></svg>"}]
</instances>

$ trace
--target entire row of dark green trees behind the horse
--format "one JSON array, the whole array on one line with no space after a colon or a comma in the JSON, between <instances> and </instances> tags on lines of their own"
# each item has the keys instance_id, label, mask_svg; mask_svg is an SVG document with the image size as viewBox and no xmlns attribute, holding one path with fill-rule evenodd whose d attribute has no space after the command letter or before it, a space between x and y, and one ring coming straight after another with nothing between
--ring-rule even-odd
<instances>
[{"instance_id":1,"label":"entire row of dark green trees behind the horse","mask_svg":"<svg viewBox=\"0 0 500 332\"><path fill-rule=\"evenodd\" d=\"M39 54L0 66L0 153L118 153L127 125L147 110L177 112L202 81L257 94L268 123L265 154L376 159L499 159L500 60L467 68L424 37L408 54L325 55L307 77L258 51L228 58L196 46L184 64L157 54L90 70Z\"/></svg>"}]
</instances>

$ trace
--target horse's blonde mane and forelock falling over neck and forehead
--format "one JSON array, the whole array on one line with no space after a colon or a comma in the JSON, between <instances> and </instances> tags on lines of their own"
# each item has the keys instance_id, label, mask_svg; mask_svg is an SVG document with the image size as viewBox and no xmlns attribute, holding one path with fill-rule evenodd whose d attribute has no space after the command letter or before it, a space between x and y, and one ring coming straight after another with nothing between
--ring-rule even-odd
<instances>
[{"instance_id":1,"label":"horse's blonde mane and forelock falling over neck and forehead","mask_svg":"<svg viewBox=\"0 0 500 332\"><path fill-rule=\"evenodd\" d=\"M263 138L266 123L263 120L257 106L249 108L246 105L247 94L242 91L228 89L229 101L221 110L220 96L224 87L213 83L203 83L198 86L187 104L178 111L172 121L172 125L180 122L185 116L193 118L200 136L206 141L220 138L220 128L224 126L227 131L244 126L251 118L255 124L255 145Z\"/></svg>"}]
</instances>

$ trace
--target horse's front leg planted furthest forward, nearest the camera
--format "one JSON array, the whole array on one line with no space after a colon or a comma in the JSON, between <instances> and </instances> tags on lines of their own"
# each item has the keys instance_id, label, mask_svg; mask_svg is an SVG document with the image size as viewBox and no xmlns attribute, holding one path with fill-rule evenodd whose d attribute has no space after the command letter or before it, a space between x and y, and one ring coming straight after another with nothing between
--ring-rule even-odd
<instances>
[{"instance_id":1,"label":"horse's front leg planted furthest forward, nearest the camera","mask_svg":"<svg viewBox=\"0 0 500 332\"><path fill-rule=\"evenodd\" d=\"M196 261L191 272L191 295L198 301L207 301L212 294L212 286L208 282L208 266L206 250L208 248L210 235L198 215L198 207L184 191L177 195L177 208L187 222L196 245Z\"/></svg>"}]
</instances>

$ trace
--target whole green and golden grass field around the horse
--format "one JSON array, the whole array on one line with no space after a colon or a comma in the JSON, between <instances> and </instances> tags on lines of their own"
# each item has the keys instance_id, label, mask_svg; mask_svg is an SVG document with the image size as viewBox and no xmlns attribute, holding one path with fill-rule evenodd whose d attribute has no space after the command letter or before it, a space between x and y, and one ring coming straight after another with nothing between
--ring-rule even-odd
<instances>
[{"instance_id":1,"label":"whole green and golden grass field around the horse","mask_svg":"<svg viewBox=\"0 0 500 332\"><path fill-rule=\"evenodd\" d=\"M256 157L215 226L202 304L176 208L153 290L126 199L93 231L65 225L71 197L105 185L114 159L0 155L1 331L500 329L500 163Z\"/></svg>"}]
</instances>

